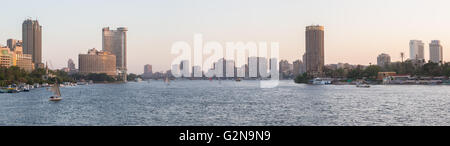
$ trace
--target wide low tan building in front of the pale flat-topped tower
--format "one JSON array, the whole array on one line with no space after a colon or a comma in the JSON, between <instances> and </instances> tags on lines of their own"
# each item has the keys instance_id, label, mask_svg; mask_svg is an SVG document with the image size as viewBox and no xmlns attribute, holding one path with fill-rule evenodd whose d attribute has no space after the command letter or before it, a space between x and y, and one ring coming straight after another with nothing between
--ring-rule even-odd
<instances>
[{"instance_id":1,"label":"wide low tan building in front of the pale flat-topped tower","mask_svg":"<svg viewBox=\"0 0 450 146\"><path fill-rule=\"evenodd\" d=\"M107 51L90 49L87 54L78 55L78 69L82 74L106 73L116 76L116 56Z\"/></svg>"}]
</instances>

